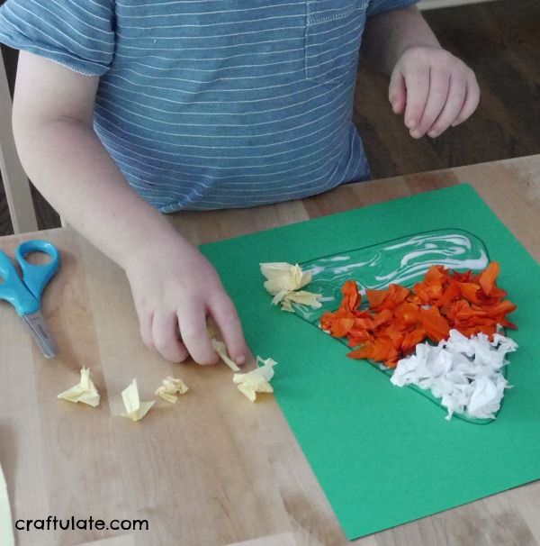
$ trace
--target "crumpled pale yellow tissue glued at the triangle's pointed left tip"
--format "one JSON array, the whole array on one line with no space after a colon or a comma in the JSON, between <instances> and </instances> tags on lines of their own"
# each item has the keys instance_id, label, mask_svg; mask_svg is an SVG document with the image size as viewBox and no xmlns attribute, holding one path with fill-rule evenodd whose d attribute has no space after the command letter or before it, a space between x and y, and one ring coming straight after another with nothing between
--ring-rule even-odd
<instances>
[{"instance_id":1,"label":"crumpled pale yellow tissue glued at the triangle's pointed left tip","mask_svg":"<svg viewBox=\"0 0 540 546\"><path fill-rule=\"evenodd\" d=\"M311 273L302 271L298 265L286 262L259 264L261 273L266 277L265 288L274 296L272 303L281 305L284 311L293 312L292 303L320 307L320 294L300 290L311 282Z\"/></svg>"}]
</instances>

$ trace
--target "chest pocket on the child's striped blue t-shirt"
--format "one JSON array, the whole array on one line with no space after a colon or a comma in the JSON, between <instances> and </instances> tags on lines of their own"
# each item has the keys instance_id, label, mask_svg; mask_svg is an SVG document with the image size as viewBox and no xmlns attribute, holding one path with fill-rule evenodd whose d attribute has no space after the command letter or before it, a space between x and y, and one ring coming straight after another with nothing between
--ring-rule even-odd
<instances>
[{"instance_id":1,"label":"chest pocket on the child's striped blue t-shirt","mask_svg":"<svg viewBox=\"0 0 540 546\"><path fill-rule=\"evenodd\" d=\"M356 72L365 26L366 0L313 0L306 3L305 73L329 83Z\"/></svg>"}]
</instances>

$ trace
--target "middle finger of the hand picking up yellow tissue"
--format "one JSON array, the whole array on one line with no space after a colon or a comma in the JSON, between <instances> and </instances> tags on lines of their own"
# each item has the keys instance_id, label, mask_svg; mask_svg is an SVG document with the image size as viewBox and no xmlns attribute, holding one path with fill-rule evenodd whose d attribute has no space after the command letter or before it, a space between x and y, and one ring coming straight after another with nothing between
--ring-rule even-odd
<instances>
[{"instance_id":1,"label":"middle finger of the hand picking up yellow tissue","mask_svg":"<svg viewBox=\"0 0 540 546\"><path fill-rule=\"evenodd\" d=\"M185 348L199 364L215 364L219 357L213 350L206 328L206 309L202 302L185 302L178 314L180 333Z\"/></svg>"}]
</instances>

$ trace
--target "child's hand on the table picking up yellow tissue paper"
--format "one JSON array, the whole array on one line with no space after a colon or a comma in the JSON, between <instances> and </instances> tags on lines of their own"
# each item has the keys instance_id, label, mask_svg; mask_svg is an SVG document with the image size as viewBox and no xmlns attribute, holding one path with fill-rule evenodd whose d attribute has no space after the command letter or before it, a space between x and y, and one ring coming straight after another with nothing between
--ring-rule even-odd
<instances>
[{"instance_id":1,"label":"child's hand on the table picking up yellow tissue paper","mask_svg":"<svg viewBox=\"0 0 540 546\"><path fill-rule=\"evenodd\" d=\"M220 328L230 358L247 359L247 345L238 314L220 278L201 252L178 238L139 250L125 267L145 345L165 359L181 362L191 356L213 364L206 317Z\"/></svg>"}]
</instances>

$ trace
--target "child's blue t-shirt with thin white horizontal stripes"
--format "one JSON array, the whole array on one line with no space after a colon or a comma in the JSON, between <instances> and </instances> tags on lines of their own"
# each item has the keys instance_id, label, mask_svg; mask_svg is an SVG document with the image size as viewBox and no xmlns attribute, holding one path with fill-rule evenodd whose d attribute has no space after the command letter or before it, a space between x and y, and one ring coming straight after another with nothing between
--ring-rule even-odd
<instances>
[{"instance_id":1,"label":"child's blue t-shirt with thin white horizontal stripes","mask_svg":"<svg viewBox=\"0 0 540 546\"><path fill-rule=\"evenodd\" d=\"M366 19L418 0L7 0L0 41L99 75L94 129L163 212L370 177L352 123Z\"/></svg>"}]
</instances>

